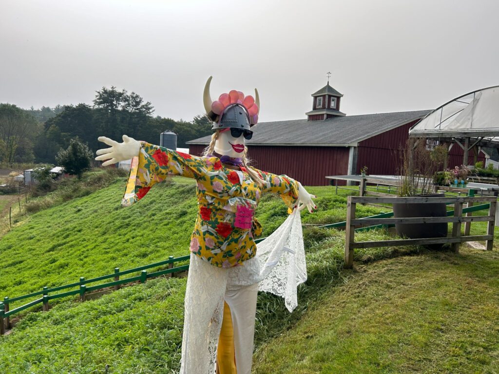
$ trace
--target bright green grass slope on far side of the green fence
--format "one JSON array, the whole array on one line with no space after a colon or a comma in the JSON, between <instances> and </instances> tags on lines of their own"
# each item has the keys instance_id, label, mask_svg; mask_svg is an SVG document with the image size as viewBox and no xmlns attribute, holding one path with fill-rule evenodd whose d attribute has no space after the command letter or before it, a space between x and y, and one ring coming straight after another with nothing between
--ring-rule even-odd
<instances>
[{"instance_id":1,"label":"bright green grass slope on far side of the green fence","mask_svg":"<svg viewBox=\"0 0 499 374\"><path fill-rule=\"evenodd\" d=\"M125 270L188 254L197 214L196 187L188 179L173 181L155 186L144 199L127 208L120 207L125 178L66 202L61 197L67 193L64 190L40 197L45 201L42 206L53 206L21 217L21 222L1 238L1 299L43 286L72 283L79 277L110 274L115 267ZM310 191L318 196L318 210L314 214L303 212L304 223L345 219L344 195L335 195L330 187L310 187ZM376 211L379 209L362 207L359 215ZM280 198L264 195L256 212L263 236L277 228L286 215ZM13 303L10 308L24 302Z\"/></svg>"}]
</instances>

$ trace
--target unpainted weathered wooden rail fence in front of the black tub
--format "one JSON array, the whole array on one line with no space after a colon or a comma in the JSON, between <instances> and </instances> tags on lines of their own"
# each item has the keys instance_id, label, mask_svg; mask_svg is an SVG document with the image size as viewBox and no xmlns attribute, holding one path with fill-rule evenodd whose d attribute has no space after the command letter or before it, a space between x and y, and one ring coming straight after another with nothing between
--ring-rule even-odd
<instances>
[{"instance_id":1,"label":"unpainted weathered wooden rail fence in front of the black tub","mask_svg":"<svg viewBox=\"0 0 499 374\"><path fill-rule=\"evenodd\" d=\"M454 204L453 216L447 217L411 217L411 218L355 218L355 206L357 203L438 203ZM485 216L463 216L466 209L463 204L468 204L468 212L477 210L479 206L471 206L474 202L489 203L489 215ZM459 251L459 246L464 241L485 240L487 250L492 250L494 241L494 225L496 221L497 196L483 197L365 197L348 196L347 215L345 227L345 268L353 266L353 250L355 248L388 247L400 245L427 245L452 243L452 249ZM465 210L465 211L463 211ZM488 222L486 235L461 235L462 222ZM355 241L355 226L358 225L378 225L378 224L396 224L396 223L452 223L452 235L440 238L424 239L395 239L381 241ZM467 229L469 233L469 228ZM466 232L466 230L465 230Z\"/></svg>"}]
</instances>

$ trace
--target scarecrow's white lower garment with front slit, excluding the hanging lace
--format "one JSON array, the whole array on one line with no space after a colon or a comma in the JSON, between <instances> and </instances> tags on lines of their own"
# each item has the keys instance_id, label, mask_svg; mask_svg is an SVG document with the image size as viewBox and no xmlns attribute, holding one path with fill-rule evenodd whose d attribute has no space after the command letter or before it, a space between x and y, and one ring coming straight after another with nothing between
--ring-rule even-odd
<instances>
[{"instance_id":1,"label":"scarecrow's white lower garment with front slit, excluding the hanging lace","mask_svg":"<svg viewBox=\"0 0 499 374\"><path fill-rule=\"evenodd\" d=\"M245 261L245 270L259 272L258 260ZM219 268L191 254L185 298L181 374L213 374L224 315L231 308L238 374L251 373L258 283L241 286L238 267ZM246 273L247 275L247 273Z\"/></svg>"}]
</instances>

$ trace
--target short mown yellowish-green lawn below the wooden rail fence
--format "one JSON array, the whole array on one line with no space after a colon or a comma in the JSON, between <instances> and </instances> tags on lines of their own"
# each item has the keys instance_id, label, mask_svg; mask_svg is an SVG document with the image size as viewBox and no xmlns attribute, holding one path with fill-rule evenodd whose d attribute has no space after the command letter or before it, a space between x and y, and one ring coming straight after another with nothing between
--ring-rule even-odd
<instances>
[{"instance_id":1,"label":"short mown yellowish-green lawn below the wooden rail fence","mask_svg":"<svg viewBox=\"0 0 499 374\"><path fill-rule=\"evenodd\" d=\"M381 260L255 355L255 373L498 373L499 255Z\"/></svg>"}]
</instances>

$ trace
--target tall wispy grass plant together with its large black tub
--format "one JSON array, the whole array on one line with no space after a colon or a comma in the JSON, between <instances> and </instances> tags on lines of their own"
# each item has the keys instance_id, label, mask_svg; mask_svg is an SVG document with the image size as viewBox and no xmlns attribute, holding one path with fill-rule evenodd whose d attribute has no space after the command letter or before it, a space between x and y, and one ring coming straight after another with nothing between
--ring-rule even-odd
<instances>
[{"instance_id":1,"label":"tall wispy grass plant together with its large black tub","mask_svg":"<svg viewBox=\"0 0 499 374\"><path fill-rule=\"evenodd\" d=\"M446 164L446 159L447 153L440 149L438 152L427 150L425 139L410 138L401 153L398 196L444 197L444 193L435 193L438 186L435 183L435 175L441 170L442 165ZM444 174L443 177L444 179L450 177L450 173ZM441 202L394 202L393 216L395 218L445 217L447 209L446 204ZM413 239L447 236L447 223L398 223L395 229L399 236Z\"/></svg>"}]
</instances>

